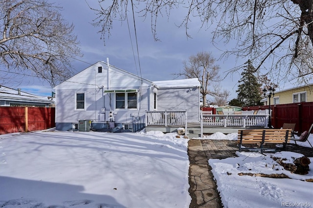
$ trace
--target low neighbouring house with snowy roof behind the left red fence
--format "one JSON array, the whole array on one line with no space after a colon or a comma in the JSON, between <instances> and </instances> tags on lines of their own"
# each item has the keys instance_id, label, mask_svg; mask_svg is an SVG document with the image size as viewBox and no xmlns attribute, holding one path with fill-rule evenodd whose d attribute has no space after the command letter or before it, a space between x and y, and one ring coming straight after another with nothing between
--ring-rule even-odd
<instances>
[{"instance_id":1,"label":"low neighbouring house with snowy roof behind the left red fence","mask_svg":"<svg viewBox=\"0 0 313 208\"><path fill-rule=\"evenodd\" d=\"M54 105L51 97L40 97L0 85L0 106L35 106L49 107Z\"/></svg>"}]
</instances>

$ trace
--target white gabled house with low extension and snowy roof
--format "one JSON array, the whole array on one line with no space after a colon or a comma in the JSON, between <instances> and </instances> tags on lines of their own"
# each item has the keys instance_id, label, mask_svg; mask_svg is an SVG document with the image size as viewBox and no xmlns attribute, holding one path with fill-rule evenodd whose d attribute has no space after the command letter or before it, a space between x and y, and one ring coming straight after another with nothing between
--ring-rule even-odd
<instances>
[{"instance_id":1,"label":"white gabled house with low extension and snowy roof","mask_svg":"<svg viewBox=\"0 0 313 208\"><path fill-rule=\"evenodd\" d=\"M74 129L81 121L93 129L112 122L144 126L145 111L164 110L187 110L188 122L199 122L200 87L198 79L151 82L96 62L55 87L56 129Z\"/></svg>"}]
</instances>

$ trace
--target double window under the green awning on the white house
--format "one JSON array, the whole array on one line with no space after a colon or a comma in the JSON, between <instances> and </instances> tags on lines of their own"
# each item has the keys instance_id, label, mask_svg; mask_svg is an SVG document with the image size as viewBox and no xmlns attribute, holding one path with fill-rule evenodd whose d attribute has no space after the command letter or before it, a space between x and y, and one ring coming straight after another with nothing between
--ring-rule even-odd
<instances>
[{"instance_id":1,"label":"double window under the green awning on the white house","mask_svg":"<svg viewBox=\"0 0 313 208\"><path fill-rule=\"evenodd\" d=\"M115 94L115 108L130 109L137 108L137 93L124 92Z\"/></svg>"}]
</instances>

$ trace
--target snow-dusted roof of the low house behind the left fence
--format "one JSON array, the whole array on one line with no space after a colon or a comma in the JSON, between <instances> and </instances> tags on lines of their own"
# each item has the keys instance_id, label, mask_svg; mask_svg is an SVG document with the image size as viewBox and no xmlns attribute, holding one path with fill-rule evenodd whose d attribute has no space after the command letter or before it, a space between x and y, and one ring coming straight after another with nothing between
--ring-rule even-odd
<instances>
[{"instance_id":1,"label":"snow-dusted roof of the low house behind the left fence","mask_svg":"<svg viewBox=\"0 0 313 208\"><path fill-rule=\"evenodd\" d=\"M20 101L20 102L32 102L32 103L48 103L53 104L54 101L48 100L47 97L40 97L27 92L20 92L19 90L12 89L10 87L5 87L0 85L0 100L6 101Z\"/></svg>"}]
</instances>

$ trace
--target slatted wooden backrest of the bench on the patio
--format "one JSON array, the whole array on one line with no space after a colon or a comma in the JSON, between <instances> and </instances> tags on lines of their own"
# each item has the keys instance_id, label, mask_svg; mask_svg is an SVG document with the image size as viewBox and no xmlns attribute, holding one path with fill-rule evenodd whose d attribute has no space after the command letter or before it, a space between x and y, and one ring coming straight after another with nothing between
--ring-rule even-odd
<instances>
[{"instance_id":1,"label":"slatted wooden backrest of the bench on the patio","mask_svg":"<svg viewBox=\"0 0 313 208\"><path fill-rule=\"evenodd\" d=\"M290 142L291 129L245 129L238 131L237 143L286 143Z\"/></svg>"}]
</instances>

